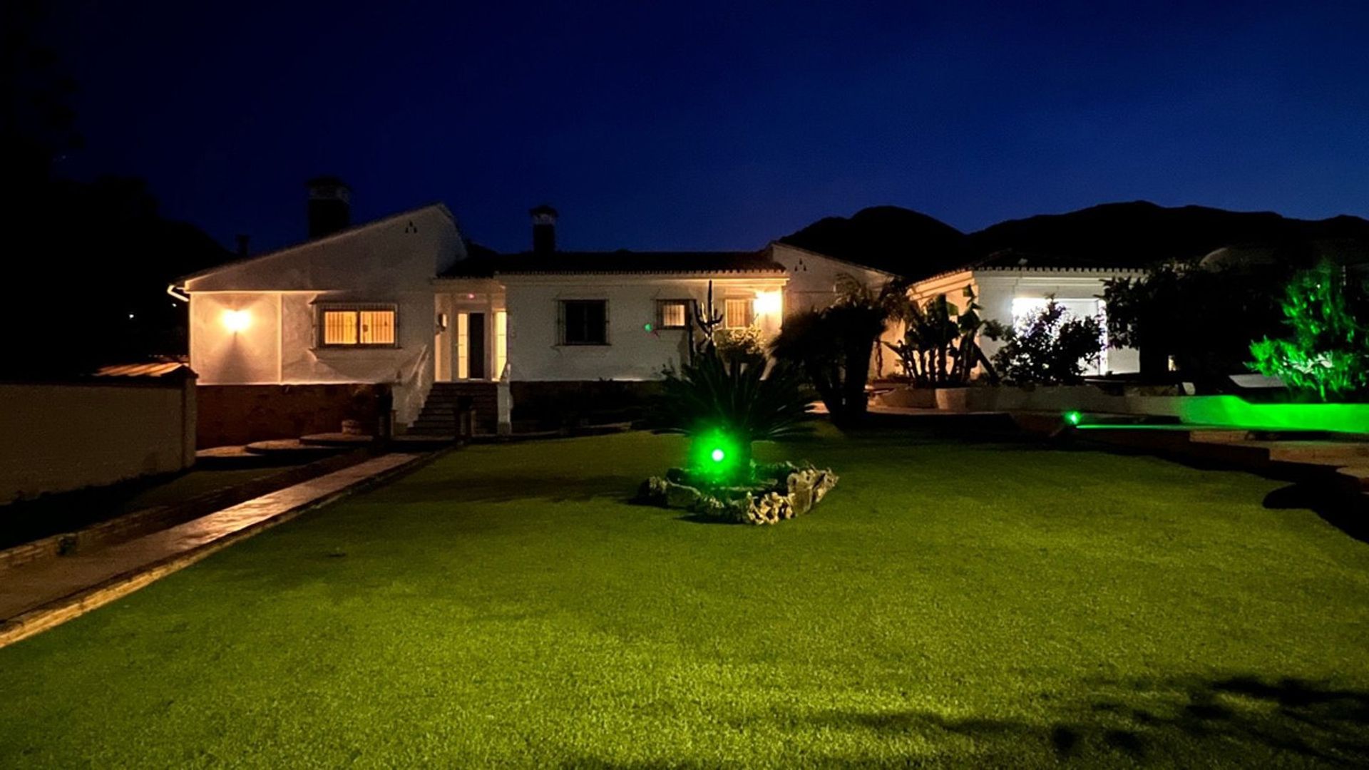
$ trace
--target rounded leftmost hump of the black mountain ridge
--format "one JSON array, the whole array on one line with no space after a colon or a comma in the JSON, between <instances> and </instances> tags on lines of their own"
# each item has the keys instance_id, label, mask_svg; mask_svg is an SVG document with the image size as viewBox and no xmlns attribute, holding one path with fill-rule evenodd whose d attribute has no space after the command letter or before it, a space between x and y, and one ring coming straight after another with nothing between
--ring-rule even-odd
<instances>
[{"instance_id":1,"label":"rounded leftmost hump of the black mountain ridge","mask_svg":"<svg viewBox=\"0 0 1369 770\"><path fill-rule=\"evenodd\" d=\"M971 256L964 233L898 206L862 208L850 218L824 216L779 241L899 275L932 275Z\"/></svg>"}]
</instances>

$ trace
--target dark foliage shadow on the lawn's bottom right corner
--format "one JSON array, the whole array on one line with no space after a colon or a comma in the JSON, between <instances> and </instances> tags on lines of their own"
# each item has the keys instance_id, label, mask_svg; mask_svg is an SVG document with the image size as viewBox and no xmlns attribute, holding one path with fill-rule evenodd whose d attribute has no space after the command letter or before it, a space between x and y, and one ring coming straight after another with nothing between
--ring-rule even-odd
<instances>
[{"instance_id":1,"label":"dark foliage shadow on the lawn's bottom right corner","mask_svg":"<svg viewBox=\"0 0 1369 770\"><path fill-rule=\"evenodd\" d=\"M882 737L910 733L934 745L938 738L962 736L979 744L976 760L988 754L1020 763L1046 754L1084 763L1240 766L1277 755L1283 762L1369 763L1369 692L1303 680L1239 675L1135 682L1043 707L1051 714L1043 723L930 711L832 711L812 721L824 729Z\"/></svg>"}]
</instances>

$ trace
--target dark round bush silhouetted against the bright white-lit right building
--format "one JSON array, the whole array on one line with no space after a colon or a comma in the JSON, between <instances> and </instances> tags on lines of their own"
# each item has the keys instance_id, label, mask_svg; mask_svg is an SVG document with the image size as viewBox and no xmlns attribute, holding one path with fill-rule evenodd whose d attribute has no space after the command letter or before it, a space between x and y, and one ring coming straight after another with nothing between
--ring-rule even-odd
<instances>
[{"instance_id":1,"label":"dark round bush silhouetted against the bright white-lit right building","mask_svg":"<svg viewBox=\"0 0 1369 770\"><path fill-rule=\"evenodd\" d=\"M1071 316L1055 297L1020 327L995 323L988 334L1003 341L994 366L1013 385L1076 385L1103 349L1102 323Z\"/></svg>"}]
</instances>

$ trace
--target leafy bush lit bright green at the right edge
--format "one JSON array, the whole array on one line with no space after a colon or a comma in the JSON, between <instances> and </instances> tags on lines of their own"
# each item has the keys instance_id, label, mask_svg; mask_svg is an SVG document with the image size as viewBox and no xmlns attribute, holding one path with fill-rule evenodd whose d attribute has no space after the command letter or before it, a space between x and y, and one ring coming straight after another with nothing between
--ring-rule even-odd
<instances>
[{"instance_id":1,"label":"leafy bush lit bright green at the right edge","mask_svg":"<svg viewBox=\"0 0 1369 770\"><path fill-rule=\"evenodd\" d=\"M1369 389L1366 286L1321 263L1292 277L1281 303L1290 336L1250 345L1250 367L1279 377L1295 395L1362 400Z\"/></svg>"}]
</instances>

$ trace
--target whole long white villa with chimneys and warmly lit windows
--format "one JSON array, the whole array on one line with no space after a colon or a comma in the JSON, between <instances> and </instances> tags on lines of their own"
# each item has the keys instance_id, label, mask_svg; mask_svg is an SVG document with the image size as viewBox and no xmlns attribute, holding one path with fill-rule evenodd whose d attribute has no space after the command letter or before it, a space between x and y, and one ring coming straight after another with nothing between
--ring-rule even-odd
<instances>
[{"instance_id":1,"label":"whole long white villa with chimneys and warmly lit windows","mask_svg":"<svg viewBox=\"0 0 1369 770\"><path fill-rule=\"evenodd\" d=\"M470 255L441 203L350 226L341 181L315 179L309 193L309 241L168 289L190 306L190 367L200 385L215 386L387 384L400 430L423 429L424 403L453 393L476 399L486 429L508 430L520 392L657 380L687 355L690 314L711 284L726 327L772 334L786 312L831 304L841 274L869 285L893 278L780 243L750 252L564 252L549 207L530 212L530 252ZM986 315L1002 321L1047 293L1094 314L1102 281L1120 273L977 266L913 292L954 299L971 285ZM1134 370L1135 355L1113 352L1105 369ZM449 426L445 418L438 427Z\"/></svg>"}]
</instances>

